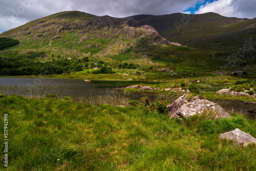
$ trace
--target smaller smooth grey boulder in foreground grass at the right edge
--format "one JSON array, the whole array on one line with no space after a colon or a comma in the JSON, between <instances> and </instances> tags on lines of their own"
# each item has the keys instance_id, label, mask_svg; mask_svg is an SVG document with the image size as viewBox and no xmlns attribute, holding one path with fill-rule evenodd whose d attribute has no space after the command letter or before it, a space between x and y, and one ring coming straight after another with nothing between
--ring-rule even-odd
<instances>
[{"instance_id":1,"label":"smaller smooth grey boulder in foreground grass at the right edge","mask_svg":"<svg viewBox=\"0 0 256 171\"><path fill-rule=\"evenodd\" d=\"M220 134L220 138L233 140L237 144L244 146L248 145L249 143L256 143L255 138L253 138L250 134L247 134L239 129L235 129L233 131Z\"/></svg>"}]
</instances>

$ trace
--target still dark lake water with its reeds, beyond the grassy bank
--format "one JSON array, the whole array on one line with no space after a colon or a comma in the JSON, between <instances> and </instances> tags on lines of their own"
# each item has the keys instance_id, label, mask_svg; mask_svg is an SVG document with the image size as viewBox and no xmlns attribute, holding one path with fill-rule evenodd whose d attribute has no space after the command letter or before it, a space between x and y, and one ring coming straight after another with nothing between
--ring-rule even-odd
<instances>
[{"instance_id":1,"label":"still dark lake water with its reeds, beyond the grassy bank","mask_svg":"<svg viewBox=\"0 0 256 171\"><path fill-rule=\"evenodd\" d=\"M7 78L0 77L0 93L6 95L22 95L25 97L44 98L56 94L58 98L69 96L77 102L88 104L127 105L130 100L139 100L141 97L150 97L151 101L173 102L181 95L166 93L126 93L113 90L140 82L136 81L92 81L84 82L81 79L46 79L46 78ZM141 82L143 83L143 82ZM144 82L156 84L159 82ZM241 113L255 119L256 104L246 104L242 101L216 100L229 113ZM250 113L252 112L252 113Z\"/></svg>"}]
</instances>

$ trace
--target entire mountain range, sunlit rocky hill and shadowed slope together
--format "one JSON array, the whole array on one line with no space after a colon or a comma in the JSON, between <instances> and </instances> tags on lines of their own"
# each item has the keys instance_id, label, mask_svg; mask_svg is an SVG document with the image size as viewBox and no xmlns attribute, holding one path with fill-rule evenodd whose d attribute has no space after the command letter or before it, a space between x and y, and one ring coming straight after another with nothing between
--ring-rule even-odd
<instances>
[{"instance_id":1,"label":"entire mountain range, sunlit rocky hill and shadowed slope together","mask_svg":"<svg viewBox=\"0 0 256 171\"><path fill-rule=\"evenodd\" d=\"M79 11L60 12L0 34L0 38L20 42L0 51L0 58L46 62L67 58L78 61L88 57L94 62L102 60L113 68L133 62L140 65L141 70L151 68L153 62L154 70L169 68L193 75L233 70L255 72L255 51L244 46L254 46L253 19L207 13L193 18L188 16L190 19L184 23L184 16L177 13L114 18ZM179 33L175 25L181 26ZM244 35L239 37L242 33ZM251 39L247 40L252 43L245 41L249 35ZM241 47L239 53L234 51L235 44L240 44L236 47ZM224 45L231 50L222 50Z\"/></svg>"}]
</instances>

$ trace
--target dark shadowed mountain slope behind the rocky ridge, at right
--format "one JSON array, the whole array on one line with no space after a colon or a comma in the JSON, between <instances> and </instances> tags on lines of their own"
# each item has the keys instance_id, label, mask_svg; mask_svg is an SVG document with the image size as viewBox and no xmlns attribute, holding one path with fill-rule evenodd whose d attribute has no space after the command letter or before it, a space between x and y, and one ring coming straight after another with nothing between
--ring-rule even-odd
<instances>
[{"instance_id":1,"label":"dark shadowed mountain slope behind the rocky ridge, at right","mask_svg":"<svg viewBox=\"0 0 256 171\"><path fill-rule=\"evenodd\" d=\"M142 25L151 25L167 40L179 42L183 46L217 51L243 48L246 41L256 46L256 18L224 17L212 12L132 17Z\"/></svg>"}]
</instances>

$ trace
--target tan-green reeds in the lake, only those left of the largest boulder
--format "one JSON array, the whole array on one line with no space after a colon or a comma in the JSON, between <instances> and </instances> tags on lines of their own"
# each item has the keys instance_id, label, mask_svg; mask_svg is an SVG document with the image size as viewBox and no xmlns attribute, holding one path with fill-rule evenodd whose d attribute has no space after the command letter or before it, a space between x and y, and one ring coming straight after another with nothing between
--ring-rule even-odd
<instances>
[{"instance_id":1,"label":"tan-green reeds in the lake, only those left of the largest boulder","mask_svg":"<svg viewBox=\"0 0 256 171\"><path fill-rule=\"evenodd\" d=\"M28 98L42 99L47 95L56 94L57 99L61 99L66 94L58 89L66 89L65 86L0 86L0 94L4 95L22 95ZM69 95L77 103L84 104L111 104L127 106L131 100L140 100L142 97L150 97L152 102L169 101L173 102L180 95L173 95L167 93L131 93L131 92L117 92L116 90L99 90L87 91L86 93L74 93Z\"/></svg>"}]
</instances>

